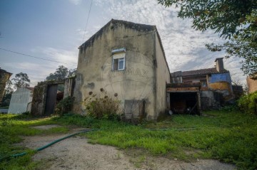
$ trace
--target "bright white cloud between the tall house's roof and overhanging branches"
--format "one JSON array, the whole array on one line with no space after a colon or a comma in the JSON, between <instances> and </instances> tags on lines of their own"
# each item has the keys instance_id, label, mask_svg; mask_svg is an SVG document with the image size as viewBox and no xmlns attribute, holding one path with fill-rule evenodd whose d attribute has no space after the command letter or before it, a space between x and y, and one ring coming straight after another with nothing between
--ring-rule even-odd
<instances>
[{"instance_id":1,"label":"bright white cloud between the tall house's roof and overhanging branches","mask_svg":"<svg viewBox=\"0 0 257 170\"><path fill-rule=\"evenodd\" d=\"M215 58L223 57L224 53L212 53L205 47L206 43L222 43L214 31L195 31L191 27L191 19L177 17L178 9L165 8L157 1L149 0L95 0L96 6L104 8L111 18L156 25L161 36L171 72L176 70L193 70L212 68ZM245 81L239 69L238 58L224 60L225 67Z\"/></svg>"}]
</instances>

